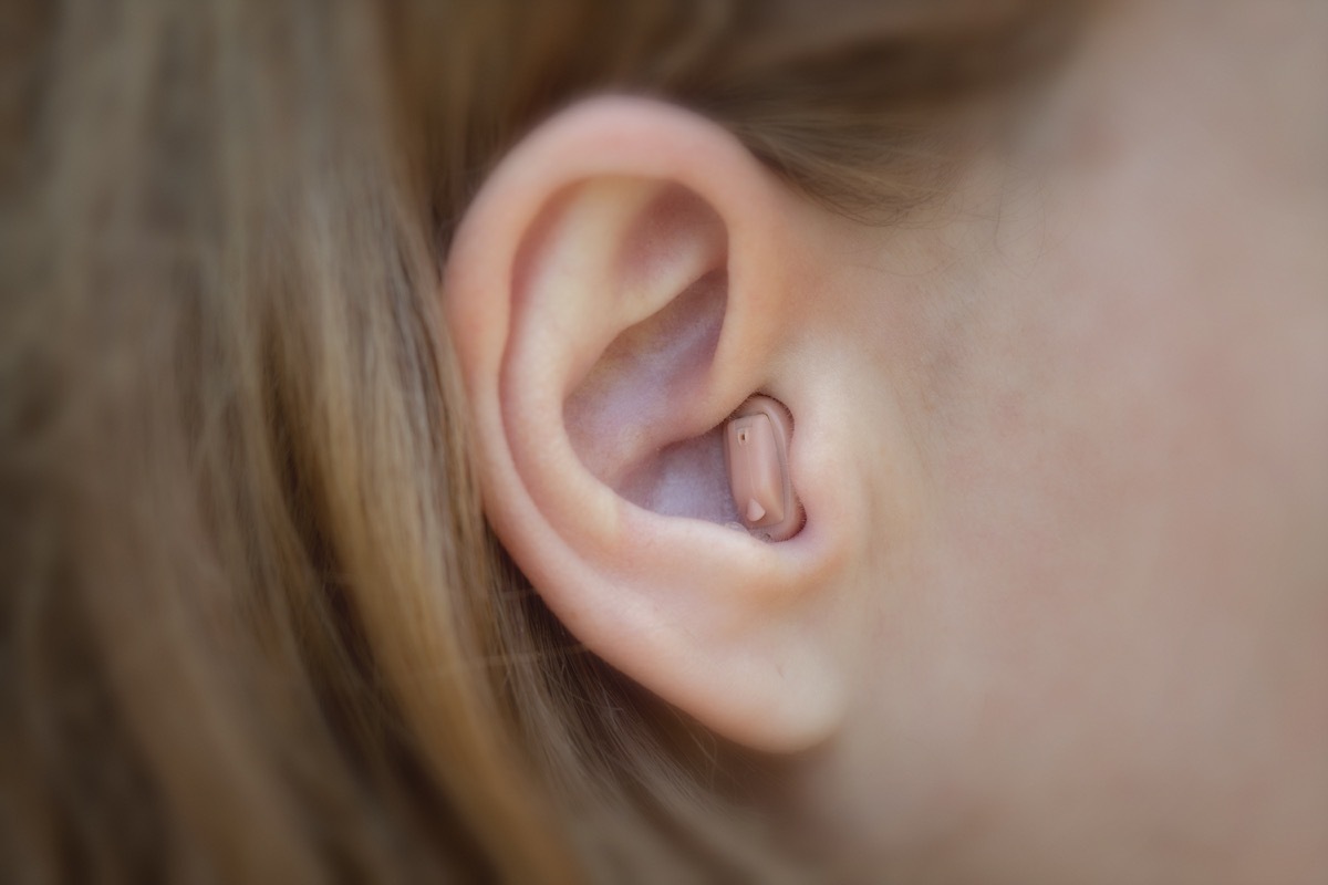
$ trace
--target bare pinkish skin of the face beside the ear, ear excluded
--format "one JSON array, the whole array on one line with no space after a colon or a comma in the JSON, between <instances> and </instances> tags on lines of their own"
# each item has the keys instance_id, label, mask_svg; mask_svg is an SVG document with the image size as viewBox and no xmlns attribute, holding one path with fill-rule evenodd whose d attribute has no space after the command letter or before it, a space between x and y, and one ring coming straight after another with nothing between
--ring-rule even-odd
<instances>
[{"instance_id":1,"label":"bare pinkish skin of the face beside the ear, ear excluded","mask_svg":"<svg viewBox=\"0 0 1328 885\"><path fill-rule=\"evenodd\" d=\"M902 502L805 772L865 878L1328 872L1325 36L1113 7L955 200L823 240L802 362L879 394L845 459Z\"/></svg>"}]
</instances>

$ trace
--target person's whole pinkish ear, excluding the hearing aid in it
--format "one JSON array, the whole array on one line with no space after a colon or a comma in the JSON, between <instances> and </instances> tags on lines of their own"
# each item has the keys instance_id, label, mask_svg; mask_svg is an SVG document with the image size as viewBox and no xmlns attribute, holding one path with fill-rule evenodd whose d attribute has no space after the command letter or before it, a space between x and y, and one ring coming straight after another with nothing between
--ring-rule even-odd
<instances>
[{"instance_id":1,"label":"person's whole pinkish ear, excluding the hearing aid in it","mask_svg":"<svg viewBox=\"0 0 1328 885\"><path fill-rule=\"evenodd\" d=\"M503 545L591 651L769 751L825 738L845 697L833 483L785 358L809 212L714 123L594 100L502 161L444 287ZM789 409L806 513L780 543L734 531L724 426L757 393Z\"/></svg>"}]
</instances>

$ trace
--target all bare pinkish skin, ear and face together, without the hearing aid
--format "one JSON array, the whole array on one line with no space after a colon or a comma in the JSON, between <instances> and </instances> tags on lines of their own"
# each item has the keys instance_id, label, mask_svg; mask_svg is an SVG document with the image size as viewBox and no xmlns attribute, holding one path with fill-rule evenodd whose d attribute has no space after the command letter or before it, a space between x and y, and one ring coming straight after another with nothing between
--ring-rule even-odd
<instances>
[{"instance_id":1,"label":"all bare pinkish skin, ear and face together, without the hearing aid","mask_svg":"<svg viewBox=\"0 0 1328 885\"><path fill-rule=\"evenodd\" d=\"M1323 881L1325 37L1320 3L1106 4L887 226L636 100L463 219L494 529L592 651L785 755L843 877ZM724 525L757 391L780 544Z\"/></svg>"}]
</instances>

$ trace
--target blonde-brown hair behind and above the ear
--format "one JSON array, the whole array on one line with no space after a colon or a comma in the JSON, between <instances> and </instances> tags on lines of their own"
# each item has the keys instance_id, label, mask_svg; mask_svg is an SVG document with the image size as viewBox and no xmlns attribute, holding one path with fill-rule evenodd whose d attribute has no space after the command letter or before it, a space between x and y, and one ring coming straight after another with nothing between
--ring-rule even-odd
<instances>
[{"instance_id":1,"label":"blonde-brown hair behind and above the ear","mask_svg":"<svg viewBox=\"0 0 1328 885\"><path fill-rule=\"evenodd\" d=\"M15 4L0 878L768 877L769 760L489 532L440 312L503 151L603 92L888 218L1066 4Z\"/></svg>"}]
</instances>

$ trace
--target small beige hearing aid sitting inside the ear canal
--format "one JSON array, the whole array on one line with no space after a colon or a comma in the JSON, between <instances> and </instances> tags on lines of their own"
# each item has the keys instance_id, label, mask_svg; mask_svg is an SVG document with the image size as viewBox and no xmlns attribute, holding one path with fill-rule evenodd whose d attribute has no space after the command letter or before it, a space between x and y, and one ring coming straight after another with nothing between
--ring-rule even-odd
<instances>
[{"instance_id":1,"label":"small beige hearing aid sitting inside the ear canal","mask_svg":"<svg viewBox=\"0 0 1328 885\"><path fill-rule=\"evenodd\" d=\"M782 541L802 528L802 506L789 476L793 421L770 397L756 395L729 418L724 459L742 525L753 535Z\"/></svg>"}]
</instances>

